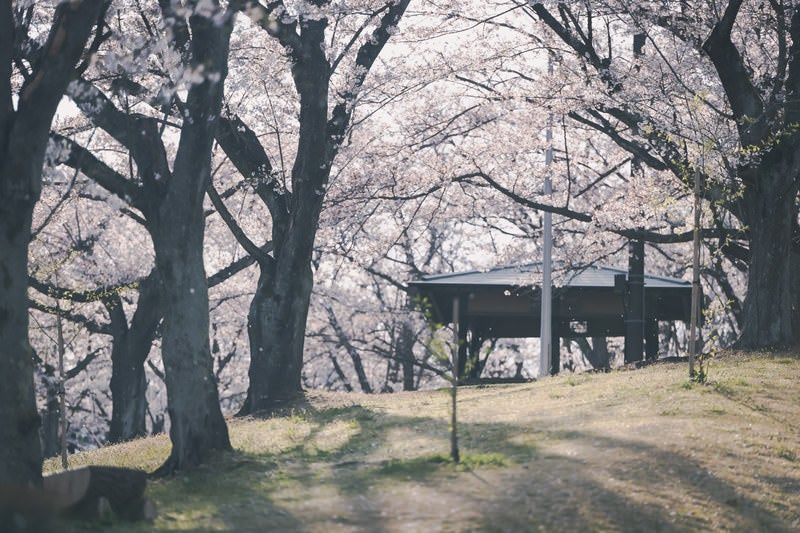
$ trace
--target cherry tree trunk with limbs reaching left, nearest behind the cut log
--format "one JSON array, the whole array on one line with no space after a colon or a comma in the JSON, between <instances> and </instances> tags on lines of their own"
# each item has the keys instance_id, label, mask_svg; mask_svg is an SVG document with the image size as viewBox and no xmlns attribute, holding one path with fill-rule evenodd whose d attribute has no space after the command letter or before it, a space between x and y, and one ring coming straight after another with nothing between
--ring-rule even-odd
<instances>
[{"instance_id":1,"label":"cherry tree trunk with limbs reaching left, nearest behind the cut log","mask_svg":"<svg viewBox=\"0 0 800 533\"><path fill-rule=\"evenodd\" d=\"M118 109L86 78L75 81L69 95L87 118L129 151L137 167L137 181L119 180L114 173L105 179L117 196L144 214L152 238L164 316L161 354L173 444L162 471L170 472L203 462L212 450L230 448L211 366L203 199L211 175L233 12L215 2L161 8L169 37L166 45L177 51L182 72L178 76L185 83L177 89L186 94L171 165L163 129L151 114ZM83 161L96 163L91 158Z\"/></svg>"}]
</instances>

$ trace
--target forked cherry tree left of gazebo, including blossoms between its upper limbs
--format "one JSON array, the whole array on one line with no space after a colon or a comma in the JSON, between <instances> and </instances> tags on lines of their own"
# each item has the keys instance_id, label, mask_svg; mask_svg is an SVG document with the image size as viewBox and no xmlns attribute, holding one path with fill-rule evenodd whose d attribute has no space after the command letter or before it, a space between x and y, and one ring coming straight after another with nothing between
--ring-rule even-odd
<instances>
[{"instance_id":1,"label":"forked cherry tree left of gazebo, including blossoms between its upper limbs","mask_svg":"<svg viewBox=\"0 0 800 533\"><path fill-rule=\"evenodd\" d=\"M313 285L310 261L331 168L351 126L361 87L409 1L357 4L242 6L285 51L299 106L287 188L255 132L239 117L222 121L217 135L237 169L257 183L256 192L272 222L270 253L258 253L257 246L235 232L260 268L248 315L250 384L243 414L273 407L300 390ZM362 12L366 16L359 16ZM345 62L349 68L342 72ZM224 212L216 201L215 206Z\"/></svg>"}]
</instances>

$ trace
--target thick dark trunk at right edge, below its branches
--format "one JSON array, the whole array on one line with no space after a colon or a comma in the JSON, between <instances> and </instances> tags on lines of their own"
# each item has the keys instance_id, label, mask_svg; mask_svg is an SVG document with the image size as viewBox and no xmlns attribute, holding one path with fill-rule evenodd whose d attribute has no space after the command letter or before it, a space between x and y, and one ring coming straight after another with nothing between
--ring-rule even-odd
<instances>
[{"instance_id":1,"label":"thick dark trunk at right edge, below its branches","mask_svg":"<svg viewBox=\"0 0 800 533\"><path fill-rule=\"evenodd\" d=\"M742 309L744 348L785 346L795 340L792 330L796 301L796 266L793 264L792 229L797 216L793 176L781 169L765 172L744 191L750 232L747 296Z\"/></svg>"}]
</instances>

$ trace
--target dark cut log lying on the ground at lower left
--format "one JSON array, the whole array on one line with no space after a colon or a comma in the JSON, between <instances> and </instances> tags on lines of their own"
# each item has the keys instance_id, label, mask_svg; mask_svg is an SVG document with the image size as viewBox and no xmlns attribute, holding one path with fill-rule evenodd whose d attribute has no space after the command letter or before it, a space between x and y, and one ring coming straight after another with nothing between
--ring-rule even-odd
<instances>
[{"instance_id":1,"label":"dark cut log lying on the ground at lower left","mask_svg":"<svg viewBox=\"0 0 800 533\"><path fill-rule=\"evenodd\" d=\"M109 509L125 520L153 520L155 505L144 497L147 474L113 466L85 466L45 476L42 488L60 514L92 519Z\"/></svg>"}]
</instances>

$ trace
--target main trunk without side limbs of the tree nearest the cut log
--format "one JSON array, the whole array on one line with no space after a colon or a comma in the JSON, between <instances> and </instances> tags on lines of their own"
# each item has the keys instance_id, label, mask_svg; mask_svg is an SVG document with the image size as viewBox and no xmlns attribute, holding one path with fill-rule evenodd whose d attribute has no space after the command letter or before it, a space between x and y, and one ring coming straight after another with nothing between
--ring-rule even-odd
<instances>
[{"instance_id":1,"label":"main trunk without side limbs of the tree nearest the cut log","mask_svg":"<svg viewBox=\"0 0 800 533\"><path fill-rule=\"evenodd\" d=\"M161 357L172 441L159 473L191 468L212 451L231 448L208 338L203 198L211 181L211 144L227 75L232 14L226 13L222 24L196 14L189 23L192 63L202 65L206 76L189 89L175 165L152 232L164 311Z\"/></svg>"}]
</instances>

